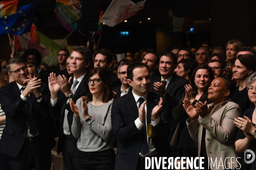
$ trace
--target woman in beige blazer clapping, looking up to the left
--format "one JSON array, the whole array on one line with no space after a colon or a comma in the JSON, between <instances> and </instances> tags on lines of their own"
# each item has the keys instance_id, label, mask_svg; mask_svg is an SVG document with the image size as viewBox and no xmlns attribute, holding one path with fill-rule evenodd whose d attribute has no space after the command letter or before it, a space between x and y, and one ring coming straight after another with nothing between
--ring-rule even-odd
<instances>
[{"instance_id":1,"label":"woman in beige blazer clapping, looking up to the left","mask_svg":"<svg viewBox=\"0 0 256 170\"><path fill-rule=\"evenodd\" d=\"M213 103L207 105L207 102L198 102L192 106L188 99L183 101L183 107L190 117L186 122L187 127L198 146L198 156L204 157L204 169L241 167L235 149L238 128L233 125L233 120L241 116L241 109L229 101L235 89L230 79L218 77L208 89L208 99Z\"/></svg>"}]
</instances>

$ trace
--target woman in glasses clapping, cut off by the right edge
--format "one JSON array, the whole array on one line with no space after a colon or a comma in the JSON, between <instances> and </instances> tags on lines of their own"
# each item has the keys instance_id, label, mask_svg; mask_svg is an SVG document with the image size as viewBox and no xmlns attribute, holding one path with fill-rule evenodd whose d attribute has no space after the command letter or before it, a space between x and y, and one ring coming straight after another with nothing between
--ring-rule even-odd
<instances>
[{"instance_id":1,"label":"woman in glasses clapping, cut off by the right edge","mask_svg":"<svg viewBox=\"0 0 256 170\"><path fill-rule=\"evenodd\" d=\"M256 72L247 79L247 94L254 107L247 109L241 117L234 120L234 124L239 128L236 136L236 151L244 152L247 149L256 153ZM251 170L256 169L256 161L250 164ZM249 167L250 168L250 167Z\"/></svg>"}]
</instances>

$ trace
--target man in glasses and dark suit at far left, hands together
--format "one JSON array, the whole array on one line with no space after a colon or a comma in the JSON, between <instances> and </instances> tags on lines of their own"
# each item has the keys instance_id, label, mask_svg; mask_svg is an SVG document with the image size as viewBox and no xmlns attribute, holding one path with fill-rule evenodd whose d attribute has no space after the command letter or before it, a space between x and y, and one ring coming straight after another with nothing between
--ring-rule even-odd
<instances>
[{"instance_id":1,"label":"man in glasses and dark suit at far left, hands together","mask_svg":"<svg viewBox=\"0 0 256 170\"><path fill-rule=\"evenodd\" d=\"M12 170L50 170L56 142L49 120L49 89L41 79L28 78L20 57L10 59L6 69L15 82L0 88L1 108L6 113L0 152L9 156Z\"/></svg>"}]
</instances>

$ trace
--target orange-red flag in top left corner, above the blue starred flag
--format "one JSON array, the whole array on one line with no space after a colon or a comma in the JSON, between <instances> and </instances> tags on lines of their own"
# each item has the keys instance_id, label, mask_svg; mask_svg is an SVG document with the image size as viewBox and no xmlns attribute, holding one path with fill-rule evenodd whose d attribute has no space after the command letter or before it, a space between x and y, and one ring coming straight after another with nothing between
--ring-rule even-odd
<instances>
[{"instance_id":1,"label":"orange-red flag in top left corner, above the blue starred flag","mask_svg":"<svg viewBox=\"0 0 256 170\"><path fill-rule=\"evenodd\" d=\"M0 17L15 14L18 8L18 0L0 1Z\"/></svg>"}]
</instances>

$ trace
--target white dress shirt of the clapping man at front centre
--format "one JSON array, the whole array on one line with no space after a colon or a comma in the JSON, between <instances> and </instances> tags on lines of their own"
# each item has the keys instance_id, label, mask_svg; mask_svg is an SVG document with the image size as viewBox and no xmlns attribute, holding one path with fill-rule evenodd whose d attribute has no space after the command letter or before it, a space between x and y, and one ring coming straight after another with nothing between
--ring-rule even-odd
<instances>
[{"instance_id":1,"label":"white dress shirt of the clapping man at front centre","mask_svg":"<svg viewBox=\"0 0 256 170\"><path fill-rule=\"evenodd\" d=\"M137 107L139 109L139 104L140 104L139 98L140 98L140 96L135 94L133 91L132 91L132 94L134 96L134 99L136 101ZM147 101L147 96L148 96L148 93L146 93L144 96L142 96L145 99L145 101ZM147 103L145 104L145 112L147 113ZM152 123L153 126L156 126L159 123L159 121L160 121L160 117L159 116L157 117L157 119L154 122L151 119L151 123ZM138 128L138 130L142 130L142 128L144 126L144 123L140 122L140 119L137 118L135 120L135 125ZM147 119L146 119L146 125L147 125ZM148 127L146 128L146 130L148 131ZM154 147L153 141L148 136L147 136L147 142L148 142L148 152L145 155L143 155L142 153L139 153L140 157L151 156L151 155L157 154L157 150Z\"/></svg>"}]
</instances>

